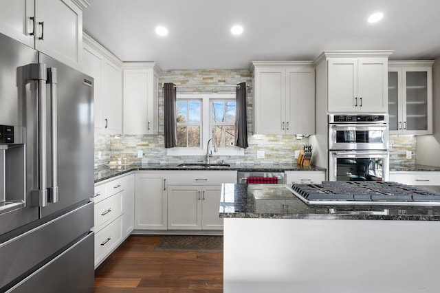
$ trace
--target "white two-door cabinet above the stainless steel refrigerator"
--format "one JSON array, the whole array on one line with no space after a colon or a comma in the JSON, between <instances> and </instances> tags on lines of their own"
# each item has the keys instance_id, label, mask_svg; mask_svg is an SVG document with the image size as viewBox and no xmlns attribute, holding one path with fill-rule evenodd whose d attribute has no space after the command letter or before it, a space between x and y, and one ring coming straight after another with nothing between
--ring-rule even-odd
<instances>
[{"instance_id":1,"label":"white two-door cabinet above the stainless steel refrigerator","mask_svg":"<svg viewBox=\"0 0 440 293\"><path fill-rule=\"evenodd\" d=\"M0 32L80 69L83 0L0 0Z\"/></svg>"}]
</instances>

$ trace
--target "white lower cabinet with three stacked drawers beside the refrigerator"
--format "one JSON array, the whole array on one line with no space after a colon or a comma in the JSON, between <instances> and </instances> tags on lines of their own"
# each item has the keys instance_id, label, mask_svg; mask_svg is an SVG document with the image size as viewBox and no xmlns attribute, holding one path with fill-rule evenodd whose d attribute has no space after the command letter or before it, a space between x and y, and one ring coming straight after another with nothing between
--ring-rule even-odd
<instances>
[{"instance_id":1,"label":"white lower cabinet with three stacked drawers beside the refrigerator","mask_svg":"<svg viewBox=\"0 0 440 293\"><path fill-rule=\"evenodd\" d=\"M95 268L133 230L134 175L115 177L95 186Z\"/></svg>"}]
</instances>

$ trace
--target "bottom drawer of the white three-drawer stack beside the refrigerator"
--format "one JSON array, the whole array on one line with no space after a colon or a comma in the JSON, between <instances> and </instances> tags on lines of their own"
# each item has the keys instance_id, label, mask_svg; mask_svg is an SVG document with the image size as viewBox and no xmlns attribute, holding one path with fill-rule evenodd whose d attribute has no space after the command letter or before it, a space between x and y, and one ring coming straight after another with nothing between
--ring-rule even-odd
<instances>
[{"instance_id":1,"label":"bottom drawer of the white three-drawer stack beside the refrigerator","mask_svg":"<svg viewBox=\"0 0 440 293\"><path fill-rule=\"evenodd\" d=\"M118 217L95 234L95 268L122 241L122 217Z\"/></svg>"}]
</instances>

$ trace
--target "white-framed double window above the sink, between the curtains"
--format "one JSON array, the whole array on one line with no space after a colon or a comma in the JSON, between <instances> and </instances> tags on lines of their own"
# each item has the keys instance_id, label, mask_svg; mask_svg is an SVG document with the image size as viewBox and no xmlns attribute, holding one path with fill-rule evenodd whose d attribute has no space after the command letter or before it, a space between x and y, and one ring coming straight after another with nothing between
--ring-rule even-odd
<instances>
[{"instance_id":1,"label":"white-framed double window above the sink, between the curtains","mask_svg":"<svg viewBox=\"0 0 440 293\"><path fill-rule=\"evenodd\" d=\"M235 94L177 94L177 147L168 155L204 155L210 138L214 155L243 155L234 146L235 109Z\"/></svg>"}]
</instances>

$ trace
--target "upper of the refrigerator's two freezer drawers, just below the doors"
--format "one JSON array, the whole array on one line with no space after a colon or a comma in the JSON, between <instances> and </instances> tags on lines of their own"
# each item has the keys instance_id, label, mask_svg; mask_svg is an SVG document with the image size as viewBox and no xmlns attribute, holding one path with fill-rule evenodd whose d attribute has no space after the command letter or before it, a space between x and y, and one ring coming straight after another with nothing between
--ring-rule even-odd
<instances>
[{"instance_id":1,"label":"upper of the refrigerator's two freezer drawers, just below the doors","mask_svg":"<svg viewBox=\"0 0 440 293\"><path fill-rule=\"evenodd\" d=\"M89 202L18 237L0 243L0 292L35 265L44 265L94 225L94 203ZM19 280L21 281L21 280Z\"/></svg>"}]
</instances>

